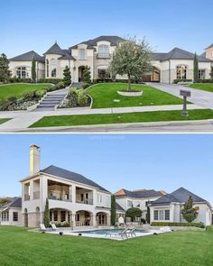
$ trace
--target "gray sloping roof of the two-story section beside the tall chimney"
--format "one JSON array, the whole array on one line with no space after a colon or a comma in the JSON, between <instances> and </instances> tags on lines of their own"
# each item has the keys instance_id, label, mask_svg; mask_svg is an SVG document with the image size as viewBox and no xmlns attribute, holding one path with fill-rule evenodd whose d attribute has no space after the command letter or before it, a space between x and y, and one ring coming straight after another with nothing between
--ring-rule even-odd
<instances>
[{"instance_id":1,"label":"gray sloping roof of the two-story section beside the tall chimney","mask_svg":"<svg viewBox=\"0 0 213 266\"><path fill-rule=\"evenodd\" d=\"M52 176L60 177L62 179L68 179L68 180L75 181L75 182L78 182L78 183L81 183L84 185L98 188L102 191L109 192L108 190L106 190L106 188L99 186L97 183L93 182L91 179L87 179L78 173L75 173L75 172L72 172L69 170L64 170L64 169L61 169L61 168L54 166L54 165L51 165L51 166L41 170L40 173L49 174Z\"/></svg>"}]
</instances>

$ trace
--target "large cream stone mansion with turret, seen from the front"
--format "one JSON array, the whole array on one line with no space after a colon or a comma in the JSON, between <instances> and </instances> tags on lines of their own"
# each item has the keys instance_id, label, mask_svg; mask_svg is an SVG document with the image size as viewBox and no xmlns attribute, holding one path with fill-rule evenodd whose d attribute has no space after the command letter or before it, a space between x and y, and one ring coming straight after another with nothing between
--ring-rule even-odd
<instances>
[{"instance_id":1,"label":"large cream stone mansion with turret, seen from the front","mask_svg":"<svg viewBox=\"0 0 213 266\"><path fill-rule=\"evenodd\" d=\"M84 81L83 70L90 68L91 79L99 78L100 72L108 69L116 46L124 41L118 36L100 36L83 41L69 49L61 49L56 42L43 56L29 51L10 59L10 70L14 77L31 78L32 58L36 60L37 78L63 78L63 69L68 66L72 81ZM174 48L169 52L152 53L153 72L144 76L144 81L173 83L174 79L193 80L194 53ZM213 44L199 56L199 78L210 78L213 64ZM117 79L126 77L117 76Z\"/></svg>"}]
</instances>

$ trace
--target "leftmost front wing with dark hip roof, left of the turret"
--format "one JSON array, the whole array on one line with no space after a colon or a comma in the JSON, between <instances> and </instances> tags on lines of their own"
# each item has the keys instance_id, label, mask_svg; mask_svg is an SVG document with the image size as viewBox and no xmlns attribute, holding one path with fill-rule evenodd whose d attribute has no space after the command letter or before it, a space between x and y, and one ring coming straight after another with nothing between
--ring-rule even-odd
<instances>
[{"instance_id":1,"label":"leftmost front wing with dark hip roof, left of the turret","mask_svg":"<svg viewBox=\"0 0 213 266\"><path fill-rule=\"evenodd\" d=\"M44 78L45 75L45 60L35 51L23 53L19 56L10 59L10 70L12 77L16 78L32 78L32 59L35 59L36 78Z\"/></svg>"}]
</instances>

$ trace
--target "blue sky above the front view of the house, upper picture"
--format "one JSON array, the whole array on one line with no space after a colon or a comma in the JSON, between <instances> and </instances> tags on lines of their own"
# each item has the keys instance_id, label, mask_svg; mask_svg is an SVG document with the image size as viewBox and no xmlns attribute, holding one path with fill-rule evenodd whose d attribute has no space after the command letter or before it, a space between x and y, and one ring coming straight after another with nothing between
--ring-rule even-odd
<instances>
[{"instance_id":1,"label":"blue sky above the front view of the house, upper picture","mask_svg":"<svg viewBox=\"0 0 213 266\"><path fill-rule=\"evenodd\" d=\"M64 49L99 35L136 34L153 50L201 53L213 42L212 0L1 1L0 52L42 54L54 41Z\"/></svg>"}]
</instances>

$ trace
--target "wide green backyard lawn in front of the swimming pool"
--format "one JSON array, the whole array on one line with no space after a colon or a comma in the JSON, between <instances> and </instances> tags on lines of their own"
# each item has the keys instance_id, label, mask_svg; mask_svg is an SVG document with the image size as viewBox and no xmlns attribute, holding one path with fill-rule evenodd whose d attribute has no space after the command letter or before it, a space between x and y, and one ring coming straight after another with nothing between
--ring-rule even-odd
<instances>
[{"instance_id":1,"label":"wide green backyard lawn in front of the swimming pool","mask_svg":"<svg viewBox=\"0 0 213 266\"><path fill-rule=\"evenodd\" d=\"M0 225L0 265L211 266L213 232L172 232L127 241L60 236Z\"/></svg>"}]
</instances>

